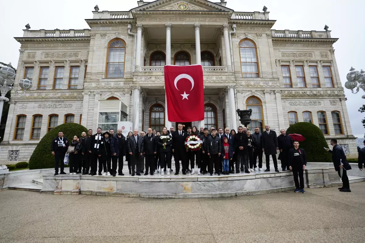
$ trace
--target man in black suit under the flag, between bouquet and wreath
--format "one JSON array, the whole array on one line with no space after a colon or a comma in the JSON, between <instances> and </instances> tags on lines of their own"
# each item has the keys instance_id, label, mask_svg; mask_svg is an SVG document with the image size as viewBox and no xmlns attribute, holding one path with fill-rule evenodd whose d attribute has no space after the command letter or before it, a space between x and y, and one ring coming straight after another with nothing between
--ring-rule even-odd
<instances>
[{"instance_id":1,"label":"man in black suit under the flag, between bouquet and wreath","mask_svg":"<svg viewBox=\"0 0 365 243\"><path fill-rule=\"evenodd\" d=\"M183 124L181 123L177 124L177 129L177 131L172 133L172 152L174 153L176 167L175 175L178 175L180 172L179 161L181 161L183 175L186 175L187 154L185 148L185 140L188 137L188 133L183 131Z\"/></svg>"}]
</instances>

